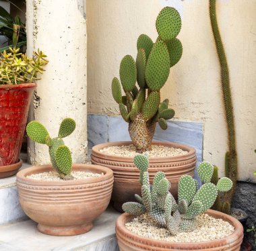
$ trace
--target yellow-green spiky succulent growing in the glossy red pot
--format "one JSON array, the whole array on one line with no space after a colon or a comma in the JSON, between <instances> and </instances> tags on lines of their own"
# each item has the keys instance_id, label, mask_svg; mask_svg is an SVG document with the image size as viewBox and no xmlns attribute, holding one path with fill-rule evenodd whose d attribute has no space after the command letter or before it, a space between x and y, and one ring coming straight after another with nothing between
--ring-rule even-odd
<instances>
[{"instance_id":1,"label":"yellow-green spiky succulent growing in the glossy red pot","mask_svg":"<svg viewBox=\"0 0 256 251\"><path fill-rule=\"evenodd\" d=\"M20 48L9 48L0 57L0 85L33 83L40 79L44 66L49 61L39 49L32 58L20 53Z\"/></svg>"}]
</instances>

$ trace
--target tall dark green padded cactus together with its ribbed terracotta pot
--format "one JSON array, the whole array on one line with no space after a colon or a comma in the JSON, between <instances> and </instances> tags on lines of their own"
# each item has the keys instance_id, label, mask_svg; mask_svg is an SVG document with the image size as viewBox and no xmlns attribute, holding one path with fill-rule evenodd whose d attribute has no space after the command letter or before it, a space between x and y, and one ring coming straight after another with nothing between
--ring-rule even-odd
<instances>
[{"instance_id":1,"label":"tall dark green padded cactus together with its ribbed terracotta pot","mask_svg":"<svg viewBox=\"0 0 256 251\"><path fill-rule=\"evenodd\" d=\"M155 43L145 34L139 36L136 60L130 55L125 56L119 70L121 84L116 77L112 82L113 97L123 119L129 123L131 142L111 142L92 148L92 163L108 166L114 171L112 199L119 211L125 201L140 192L139 173L133 165L133 156L127 156L124 148L131 154L147 151L150 154L150 180L156 172L164 170L172 183L174 197L177 197L179 177L182 174L193 176L195 170L194 148L172 142L152 142L156 124L166 130L166 120L174 116L174 110L168 108L168 99L160 101L160 89L168 79L170 67L177 64L183 52L182 44L176 38L181 30L179 12L164 7L156 19L156 30L158 39ZM113 152L116 148L120 150L117 154Z\"/></svg>"}]
</instances>

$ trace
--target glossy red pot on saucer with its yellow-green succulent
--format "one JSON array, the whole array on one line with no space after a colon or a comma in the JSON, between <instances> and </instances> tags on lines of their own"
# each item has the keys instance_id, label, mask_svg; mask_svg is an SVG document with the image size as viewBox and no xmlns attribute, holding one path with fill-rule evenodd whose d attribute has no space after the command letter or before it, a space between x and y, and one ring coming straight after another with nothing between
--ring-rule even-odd
<instances>
[{"instance_id":1,"label":"glossy red pot on saucer with its yellow-green succulent","mask_svg":"<svg viewBox=\"0 0 256 251\"><path fill-rule=\"evenodd\" d=\"M40 50L32 58L20 53L20 48L9 48L0 57L0 178L15 174L22 138L26 127L28 109L34 83L47 64Z\"/></svg>"}]
</instances>

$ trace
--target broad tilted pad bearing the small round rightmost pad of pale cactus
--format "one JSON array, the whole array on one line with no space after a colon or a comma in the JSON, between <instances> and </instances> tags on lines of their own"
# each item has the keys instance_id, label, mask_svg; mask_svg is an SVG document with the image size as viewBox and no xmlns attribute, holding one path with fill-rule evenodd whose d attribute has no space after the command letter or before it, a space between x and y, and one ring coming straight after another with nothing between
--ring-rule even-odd
<instances>
[{"instance_id":1,"label":"broad tilted pad bearing the small round rightmost pad of pale cactus","mask_svg":"<svg viewBox=\"0 0 256 251\"><path fill-rule=\"evenodd\" d=\"M218 195L218 189L216 185L212 183L206 183L200 187L200 189L195 194L193 201L200 201L202 204L201 213L210 209L214 202L216 201L216 197Z\"/></svg>"}]
</instances>

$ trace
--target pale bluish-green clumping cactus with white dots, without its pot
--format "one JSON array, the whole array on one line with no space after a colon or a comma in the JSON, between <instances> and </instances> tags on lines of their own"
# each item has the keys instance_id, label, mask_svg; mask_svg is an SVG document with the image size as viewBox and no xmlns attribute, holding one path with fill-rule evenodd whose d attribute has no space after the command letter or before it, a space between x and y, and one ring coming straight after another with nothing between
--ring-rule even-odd
<instances>
[{"instance_id":1,"label":"pale bluish-green clumping cactus with white dots, without its pot","mask_svg":"<svg viewBox=\"0 0 256 251\"><path fill-rule=\"evenodd\" d=\"M228 191L232 187L232 181L226 177L220 179L216 185L210 183L214 166L209 162L202 162L199 164L198 174L203 185L198 189L195 179L183 175L178 183L178 201L175 201L169 192L170 183L164 172L157 172L153 184L150 185L147 155L135 156L134 164L140 172L141 197L135 195L137 202L124 203L123 211L131 215L148 213L173 235L193 231L196 216L214 205L218 191Z\"/></svg>"}]
</instances>

